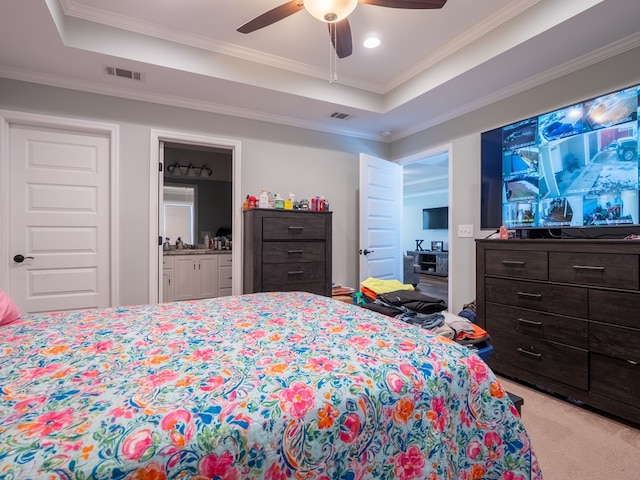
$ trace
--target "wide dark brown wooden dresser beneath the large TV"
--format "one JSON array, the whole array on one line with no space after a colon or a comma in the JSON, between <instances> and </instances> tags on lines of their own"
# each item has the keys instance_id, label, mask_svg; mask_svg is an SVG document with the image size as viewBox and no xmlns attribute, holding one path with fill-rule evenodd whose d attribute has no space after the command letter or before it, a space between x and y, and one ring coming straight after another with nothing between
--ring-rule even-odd
<instances>
[{"instance_id":1,"label":"wide dark brown wooden dresser beneath the large TV","mask_svg":"<svg viewBox=\"0 0 640 480\"><path fill-rule=\"evenodd\" d=\"M640 424L640 242L477 240L489 365Z\"/></svg>"}]
</instances>

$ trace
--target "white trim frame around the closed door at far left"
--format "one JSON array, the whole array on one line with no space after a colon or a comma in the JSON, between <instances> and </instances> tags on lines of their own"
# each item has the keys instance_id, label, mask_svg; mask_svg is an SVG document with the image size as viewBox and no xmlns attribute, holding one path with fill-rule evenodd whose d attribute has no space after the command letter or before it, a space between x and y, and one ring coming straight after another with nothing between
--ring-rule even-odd
<instances>
[{"instance_id":1,"label":"white trim frame around the closed door at far left","mask_svg":"<svg viewBox=\"0 0 640 480\"><path fill-rule=\"evenodd\" d=\"M120 128L116 124L0 109L0 225L9 225L9 134L12 125L67 129L104 135L109 139L109 301L120 304L120 254L118 248L120 202L117 180L120 163ZM10 226L9 226L10 227ZM11 294L9 229L0 233L0 288Z\"/></svg>"}]
</instances>

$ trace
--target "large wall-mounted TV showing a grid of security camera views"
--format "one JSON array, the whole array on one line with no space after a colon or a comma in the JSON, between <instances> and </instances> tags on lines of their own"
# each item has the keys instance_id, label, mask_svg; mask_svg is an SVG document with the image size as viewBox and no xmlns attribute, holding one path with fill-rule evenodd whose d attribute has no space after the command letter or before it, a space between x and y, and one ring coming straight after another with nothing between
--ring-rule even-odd
<instances>
[{"instance_id":1,"label":"large wall-mounted TV showing a grid of security camera views","mask_svg":"<svg viewBox=\"0 0 640 480\"><path fill-rule=\"evenodd\" d=\"M640 86L481 136L481 228L637 225Z\"/></svg>"}]
</instances>

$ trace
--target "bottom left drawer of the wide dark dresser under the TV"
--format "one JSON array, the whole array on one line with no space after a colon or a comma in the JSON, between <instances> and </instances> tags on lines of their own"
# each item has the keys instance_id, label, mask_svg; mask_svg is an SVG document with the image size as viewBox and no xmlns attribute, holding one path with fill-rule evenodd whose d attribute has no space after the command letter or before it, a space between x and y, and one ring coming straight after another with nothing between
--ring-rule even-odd
<instances>
[{"instance_id":1,"label":"bottom left drawer of the wide dark dresser under the TV","mask_svg":"<svg viewBox=\"0 0 640 480\"><path fill-rule=\"evenodd\" d=\"M491 332L489 332L491 333ZM529 335L500 332L492 336L495 361L586 390L588 352Z\"/></svg>"}]
</instances>

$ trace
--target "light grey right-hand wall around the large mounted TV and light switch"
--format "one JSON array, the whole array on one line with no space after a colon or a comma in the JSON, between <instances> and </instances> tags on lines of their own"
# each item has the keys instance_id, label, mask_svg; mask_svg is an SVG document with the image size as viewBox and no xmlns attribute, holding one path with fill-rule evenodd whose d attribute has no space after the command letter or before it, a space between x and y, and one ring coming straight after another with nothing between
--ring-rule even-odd
<instances>
[{"instance_id":1,"label":"light grey right-hand wall around the large mounted TV and light switch","mask_svg":"<svg viewBox=\"0 0 640 480\"><path fill-rule=\"evenodd\" d=\"M541 52L542 54L542 52ZM451 143L452 229L449 250L450 308L459 311L475 298L475 242L457 237L457 226L473 224L475 238L480 231L480 134L505 124L551 111L613 90L640 83L640 48L609 58L580 71L493 103L454 120L411 135L391 144L390 158L399 161L418 152Z\"/></svg>"}]
</instances>

